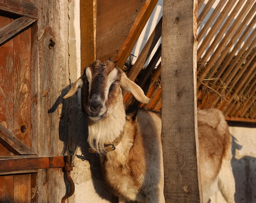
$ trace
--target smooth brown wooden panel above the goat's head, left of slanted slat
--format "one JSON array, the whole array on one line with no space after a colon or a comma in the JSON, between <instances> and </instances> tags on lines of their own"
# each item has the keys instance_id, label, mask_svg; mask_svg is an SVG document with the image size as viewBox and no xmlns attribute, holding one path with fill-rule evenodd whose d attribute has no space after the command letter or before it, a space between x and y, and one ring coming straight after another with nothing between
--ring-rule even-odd
<instances>
[{"instance_id":1,"label":"smooth brown wooden panel above the goat's head, left of slanted slat","mask_svg":"<svg viewBox=\"0 0 256 203\"><path fill-rule=\"evenodd\" d=\"M97 1L97 59L117 56L145 1Z\"/></svg>"}]
</instances>

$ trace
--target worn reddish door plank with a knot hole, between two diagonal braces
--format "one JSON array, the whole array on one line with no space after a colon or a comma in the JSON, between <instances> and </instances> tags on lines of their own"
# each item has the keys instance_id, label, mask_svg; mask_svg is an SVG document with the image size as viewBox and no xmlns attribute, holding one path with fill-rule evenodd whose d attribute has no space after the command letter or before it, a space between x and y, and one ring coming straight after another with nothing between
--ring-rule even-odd
<instances>
[{"instance_id":1,"label":"worn reddish door plank with a knot hole, between two diagonal braces","mask_svg":"<svg viewBox=\"0 0 256 203\"><path fill-rule=\"evenodd\" d=\"M13 134L31 147L31 28L13 39Z\"/></svg>"}]
</instances>

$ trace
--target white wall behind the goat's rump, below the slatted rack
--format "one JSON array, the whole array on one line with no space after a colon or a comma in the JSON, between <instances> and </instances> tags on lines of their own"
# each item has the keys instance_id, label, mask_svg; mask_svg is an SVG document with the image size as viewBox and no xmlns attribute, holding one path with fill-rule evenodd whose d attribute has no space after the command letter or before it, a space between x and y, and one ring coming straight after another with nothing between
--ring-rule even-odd
<instances>
[{"instance_id":1,"label":"white wall behind the goat's rump, below the slatted rack","mask_svg":"<svg viewBox=\"0 0 256 203\"><path fill-rule=\"evenodd\" d=\"M229 123L236 203L256 203L256 124ZM218 192L211 203L227 203Z\"/></svg>"}]
</instances>

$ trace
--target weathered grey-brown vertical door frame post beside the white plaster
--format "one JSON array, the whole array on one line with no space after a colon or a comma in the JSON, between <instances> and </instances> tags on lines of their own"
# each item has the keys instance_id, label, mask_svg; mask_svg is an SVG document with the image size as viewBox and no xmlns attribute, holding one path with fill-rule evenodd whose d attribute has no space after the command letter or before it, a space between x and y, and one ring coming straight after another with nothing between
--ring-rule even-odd
<instances>
[{"instance_id":1,"label":"weathered grey-brown vertical door frame post beside the white plaster","mask_svg":"<svg viewBox=\"0 0 256 203\"><path fill-rule=\"evenodd\" d=\"M38 0L38 22L33 28L32 62L32 129L38 145L38 156L68 154L68 115L65 95L69 80L68 1ZM47 13L47 15L45 15ZM50 39L55 45L49 48ZM34 71L34 69L33 69ZM48 112L56 105L54 112ZM34 126L35 124L35 126ZM33 135L34 136L34 135ZM37 143L38 144L37 144ZM50 184L50 180L52 184ZM66 192L61 169L40 169L34 191L37 202L60 202ZM52 195L54 194L54 195Z\"/></svg>"}]
</instances>

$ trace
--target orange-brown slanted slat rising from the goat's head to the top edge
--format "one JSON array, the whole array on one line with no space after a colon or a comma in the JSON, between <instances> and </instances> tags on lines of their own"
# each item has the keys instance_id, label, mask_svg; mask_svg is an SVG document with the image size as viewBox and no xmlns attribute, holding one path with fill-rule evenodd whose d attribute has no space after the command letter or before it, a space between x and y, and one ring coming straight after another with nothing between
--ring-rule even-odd
<instances>
[{"instance_id":1,"label":"orange-brown slanted slat rising from the goat's head to the top edge","mask_svg":"<svg viewBox=\"0 0 256 203\"><path fill-rule=\"evenodd\" d=\"M157 0L146 0L144 5L141 7L138 17L133 23L129 34L126 37L126 40L124 41L124 44L119 50L117 57L114 59L118 67L121 68L124 66L130 52L132 51L135 43L137 42L139 35L141 34L141 31L146 25L146 22L150 17L156 4L157 4Z\"/></svg>"}]
</instances>

